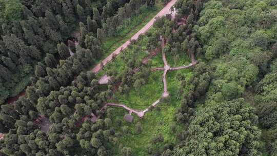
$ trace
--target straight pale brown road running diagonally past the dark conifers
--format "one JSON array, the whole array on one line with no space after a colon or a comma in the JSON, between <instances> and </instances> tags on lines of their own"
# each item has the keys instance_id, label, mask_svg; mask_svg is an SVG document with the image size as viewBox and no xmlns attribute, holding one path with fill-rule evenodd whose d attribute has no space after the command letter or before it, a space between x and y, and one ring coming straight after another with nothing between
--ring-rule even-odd
<instances>
[{"instance_id":1,"label":"straight pale brown road running diagonally past the dark conifers","mask_svg":"<svg viewBox=\"0 0 277 156\"><path fill-rule=\"evenodd\" d=\"M177 0L170 1L159 13L155 15L155 17L161 17L168 13L170 13L170 8L176 3ZM136 40L140 34L145 33L155 22L155 17L151 19L140 31L138 31L136 34L134 34L130 39ZM130 44L130 41L125 42L122 46L118 47L115 51L113 51L108 57L106 57L102 63L105 66L108 62L112 60L113 55L118 55L121 50L127 48L127 46ZM101 62L97 64L91 71L94 73L97 73L101 70Z\"/></svg>"}]
</instances>

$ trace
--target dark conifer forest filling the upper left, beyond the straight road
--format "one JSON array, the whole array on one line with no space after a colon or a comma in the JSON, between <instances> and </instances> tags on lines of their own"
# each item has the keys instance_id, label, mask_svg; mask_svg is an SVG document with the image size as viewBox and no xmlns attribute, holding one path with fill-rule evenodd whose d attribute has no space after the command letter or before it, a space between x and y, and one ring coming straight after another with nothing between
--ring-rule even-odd
<instances>
[{"instance_id":1,"label":"dark conifer forest filling the upper left, beyond the straight road","mask_svg":"<svg viewBox=\"0 0 277 156\"><path fill-rule=\"evenodd\" d=\"M75 30L80 33L80 36L73 34L80 44L77 52L82 48L90 50L91 56L86 56L87 63L84 64L91 65L103 54L101 45L104 37L116 35L122 25L140 13L144 4L152 7L154 2L2 0L0 4L0 67L3 73L0 103L4 103L8 97L17 95L29 83L35 82L35 78L29 79L31 76L45 77L47 68L62 66L60 60L85 67L79 65L84 55L70 57L76 49L74 43L67 42L67 39Z\"/></svg>"}]
</instances>

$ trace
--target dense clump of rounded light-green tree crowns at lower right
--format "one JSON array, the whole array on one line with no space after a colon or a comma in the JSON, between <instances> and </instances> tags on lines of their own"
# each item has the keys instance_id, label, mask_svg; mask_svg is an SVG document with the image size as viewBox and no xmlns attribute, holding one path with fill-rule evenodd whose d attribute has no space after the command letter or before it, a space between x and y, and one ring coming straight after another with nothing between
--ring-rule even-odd
<instances>
[{"instance_id":1,"label":"dense clump of rounded light-green tree crowns at lower right","mask_svg":"<svg viewBox=\"0 0 277 156\"><path fill-rule=\"evenodd\" d=\"M243 99L208 105L191 121L177 155L259 155L258 116Z\"/></svg>"}]
</instances>

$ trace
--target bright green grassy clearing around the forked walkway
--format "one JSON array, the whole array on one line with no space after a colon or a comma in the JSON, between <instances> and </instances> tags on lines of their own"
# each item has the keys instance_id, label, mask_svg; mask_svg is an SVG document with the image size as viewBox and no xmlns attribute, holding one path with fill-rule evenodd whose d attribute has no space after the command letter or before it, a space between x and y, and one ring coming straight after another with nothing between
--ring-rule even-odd
<instances>
[{"instance_id":1,"label":"bright green grassy clearing around the forked walkway","mask_svg":"<svg viewBox=\"0 0 277 156\"><path fill-rule=\"evenodd\" d=\"M168 63L173 64L172 56L167 56ZM176 66L189 64L188 59L184 56L180 56L180 61L177 62ZM163 66L162 54L159 53L156 57L152 58L152 63L154 66ZM182 69L180 71L171 71L167 74L168 91L170 93L169 101L167 103L160 103L158 108L153 109L145 114L143 119L138 119L136 115L134 116L133 123L127 123L123 121L122 125L118 126L116 124L116 119L122 120L124 115L128 113L123 108L113 108L113 126L115 131L121 131L122 127L127 126L129 128L129 134L123 134L119 138L119 144L123 147L131 147L134 151L134 155L144 156L148 155L148 144L151 143L151 139L156 134L162 134L164 136L164 144L176 143L176 133L172 132L170 129L174 121L174 114L176 108L180 107L180 99L178 95L177 88L180 86L179 80L176 78L177 72L184 74L189 77L192 73L189 69ZM134 109L145 109L150 106L154 101L161 97L163 92L162 83L162 71L152 72L149 79L139 91L135 88L131 88L128 94L120 95L116 93L117 102L124 103L125 105L132 107ZM141 122L143 131L141 134L136 134L135 124ZM177 126L176 131L184 130L186 127ZM114 146L112 148L114 155L121 155L121 146ZM157 143L154 145L155 149L163 148L162 144Z\"/></svg>"}]
</instances>

